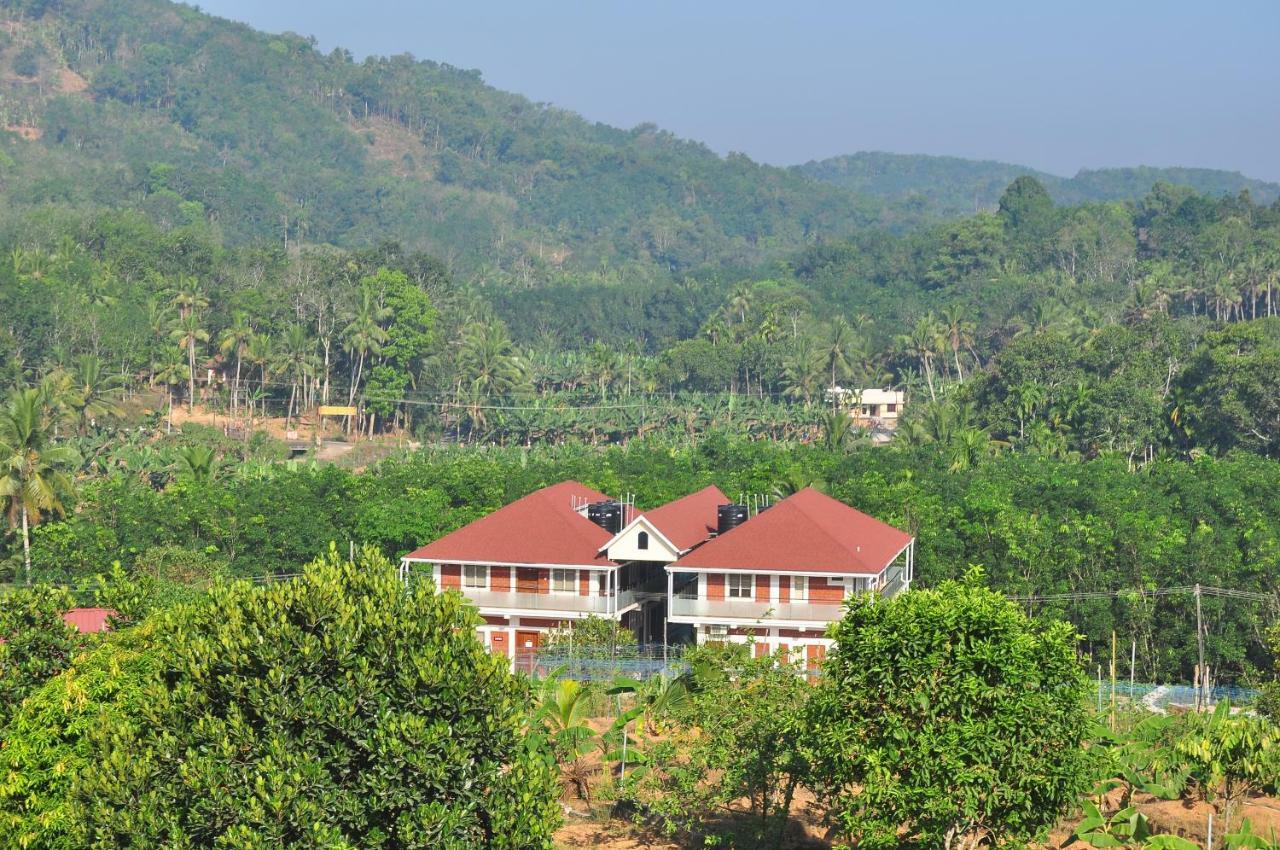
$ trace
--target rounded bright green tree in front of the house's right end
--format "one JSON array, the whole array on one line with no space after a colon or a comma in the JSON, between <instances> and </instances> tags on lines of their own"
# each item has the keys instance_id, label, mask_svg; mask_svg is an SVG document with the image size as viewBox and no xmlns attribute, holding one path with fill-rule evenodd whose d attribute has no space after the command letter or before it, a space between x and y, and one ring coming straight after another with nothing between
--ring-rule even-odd
<instances>
[{"instance_id":1,"label":"rounded bright green tree in front of the house's right end","mask_svg":"<svg viewBox=\"0 0 1280 850\"><path fill-rule=\"evenodd\" d=\"M808 721L813 782L860 847L1028 841L1088 787L1074 630L1028 620L980 580L860 597L832 627Z\"/></svg>"}]
</instances>

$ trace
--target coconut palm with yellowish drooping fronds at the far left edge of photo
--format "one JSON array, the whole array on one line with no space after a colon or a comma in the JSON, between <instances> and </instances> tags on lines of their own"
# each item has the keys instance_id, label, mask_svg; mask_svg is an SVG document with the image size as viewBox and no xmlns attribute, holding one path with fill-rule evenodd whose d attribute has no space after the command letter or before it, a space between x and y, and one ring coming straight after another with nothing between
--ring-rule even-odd
<instances>
[{"instance_id":1,"label":"coconut palm with yellowish drooping fronds at the far left edge of photo","mask_svg":"<svg viewBox=\"0 0 1280 850\"><path fill-rule=\"evenodd\" d=\"M19 389L0 411L0 504L10 527L22 529L26 582L31 584L31 527L47 513L65 513L74 495L79 454L56 445L38 389Z\"/></svg>"}]
</instances>

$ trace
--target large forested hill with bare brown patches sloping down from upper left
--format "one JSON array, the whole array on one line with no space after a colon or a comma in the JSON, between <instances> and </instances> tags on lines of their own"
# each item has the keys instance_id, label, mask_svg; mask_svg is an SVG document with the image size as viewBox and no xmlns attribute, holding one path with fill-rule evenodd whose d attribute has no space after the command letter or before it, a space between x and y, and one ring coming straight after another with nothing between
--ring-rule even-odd
<instances>
[{"instance_id":1,"label":"large forested hill with bare brown patches sloping down from upper left","mask_svg":"<svg viewBox=\"0 0 1280 850\"><path fill-rule=\"evenodd\" d=\"M385 239L486 280L748 266L892 205L593 124L410 56L355 61L165 0L0 1L3 191L205 218L229 243Z\"/></svg>"}]
</instances>

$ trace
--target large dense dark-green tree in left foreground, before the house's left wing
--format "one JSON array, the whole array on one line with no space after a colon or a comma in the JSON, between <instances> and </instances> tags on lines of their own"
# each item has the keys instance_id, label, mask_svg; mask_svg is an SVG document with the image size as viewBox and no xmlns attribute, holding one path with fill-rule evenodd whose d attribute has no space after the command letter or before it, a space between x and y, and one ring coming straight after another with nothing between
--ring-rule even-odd
<instances>
[{"instance_id":1,"label":"large dense dark-green tree in left foreground, before the house's left wing","mask_svg":"<svg viewBox=\"0 0 1280 850\"><path fill-rule=\"evenodd\" d=\"M475 609L335 550L164 614L150 722L77 783L116 846L549 847L554 764ZM228 646L237 649L228 652Z\"/></svg>"}]
</instances>

